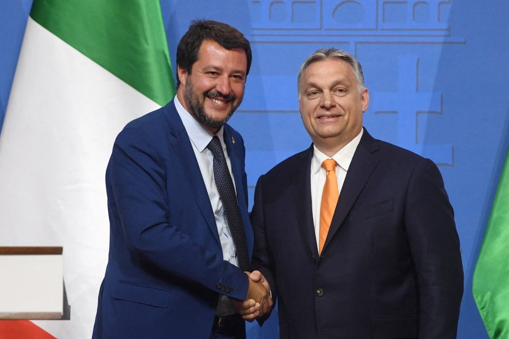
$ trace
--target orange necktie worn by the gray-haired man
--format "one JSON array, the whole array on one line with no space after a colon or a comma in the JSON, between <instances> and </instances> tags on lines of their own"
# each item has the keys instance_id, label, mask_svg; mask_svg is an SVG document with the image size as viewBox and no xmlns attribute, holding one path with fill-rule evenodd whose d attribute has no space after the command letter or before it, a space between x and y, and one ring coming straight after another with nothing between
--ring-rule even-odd
<instances>
[{"instance_id":1,"label":"orange necktie worn by the gray-haired man","mask_svg":"<svg viewBox=\"0 0 509 339\"><path fill-rule=\"evenodd\" d=\"M320 241L318 253L322 253L327 233L329 233L330 222L332 215L336 209L337 198L340 195L337 191L337 178L336 178L336 161L334 159L327 159L322 162L322 166L327 172L325 178L325 185L323 186L322 204L320 206Z\"/></svg>"}]
</instances>

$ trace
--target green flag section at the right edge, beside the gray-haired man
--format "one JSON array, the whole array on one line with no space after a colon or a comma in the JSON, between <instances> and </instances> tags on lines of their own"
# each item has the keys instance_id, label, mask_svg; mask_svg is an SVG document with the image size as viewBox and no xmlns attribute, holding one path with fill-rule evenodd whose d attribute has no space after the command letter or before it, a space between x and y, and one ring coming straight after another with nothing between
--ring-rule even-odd
<instances>
[{"instance_id":1,"label":"green flag section at the right edge, beside the gray-haired man","mask_svg":"<svg viewBox=\"0 0 509 339\"><path fill-rule=\"evenodd\" d=\"M472 292L490 338L509 338L509 153L475 266Z\"/></svg>"}]
</instances>

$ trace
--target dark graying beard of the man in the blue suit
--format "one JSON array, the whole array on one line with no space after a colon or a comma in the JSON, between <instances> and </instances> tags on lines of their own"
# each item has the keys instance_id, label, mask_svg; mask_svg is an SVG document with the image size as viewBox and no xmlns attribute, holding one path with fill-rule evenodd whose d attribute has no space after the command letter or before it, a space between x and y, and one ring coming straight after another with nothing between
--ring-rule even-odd
<instances>
[{"instance_id":1,"label":"dark graying beard of the man in the blue suit","mask_svg":"<svg viewBox=\"0 0 509 339\"><path fill-rule=\"evenodd\" d=\"M242 98L239 101L237 100L237 96L235 94L230 94L229 96L223 96L215 91L208 91L203 94L204 98L223 98L232 102L232 108L228 111L228 114L224 118L214 119L212 118L200 100L199 96L194 91L194 87L192 85L191 79L187 77L186 84L184 87L184 98L186 100L187 106L189 107L190 113L200 124L210 127L210 128L220 128L222 125L227 123L227 121L232 117L233 112L239 107Z\"/></svg>"}]
</instances>

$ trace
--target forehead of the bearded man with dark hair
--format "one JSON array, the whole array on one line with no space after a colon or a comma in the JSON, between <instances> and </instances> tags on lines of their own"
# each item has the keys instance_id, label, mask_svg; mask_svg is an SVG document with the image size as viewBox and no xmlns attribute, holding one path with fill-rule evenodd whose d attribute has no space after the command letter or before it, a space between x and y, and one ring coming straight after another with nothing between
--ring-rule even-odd
<instances>
[{"instance_id":1,"label":"forehead of the bearded man with dark hair","mask_svg":"<svg viewBox=\"0 0 509 339\"><path fill-rule=\"evenodd\" d=\"M211 64L213 66L230 66L236 69L247 69L247 56L242 48L227 49L213 40L204 40L198 50L198 58L195 64L202 66Z\"/></svg>"}]
</instances>

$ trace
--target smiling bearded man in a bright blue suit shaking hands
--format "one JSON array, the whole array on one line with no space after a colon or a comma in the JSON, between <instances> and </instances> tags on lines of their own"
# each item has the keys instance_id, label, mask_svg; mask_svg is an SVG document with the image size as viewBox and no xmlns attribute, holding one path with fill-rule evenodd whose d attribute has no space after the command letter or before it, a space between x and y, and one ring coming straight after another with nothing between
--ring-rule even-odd
<instances>
[{"instance_id":1,"label":"smiling bearded man in a bright blue suit shaking hands","mask_svg":"<svg viewBox=\"0 0 509 339\"><path fill-rule=\"evenodd\" d=\"M243 338L242 316L272 306L263 276L247 275L245 150L225 124L250 64L239 31L193 21L177 49L177 96L118 135L94 338Z\"/></svg>"}]
</instances>

